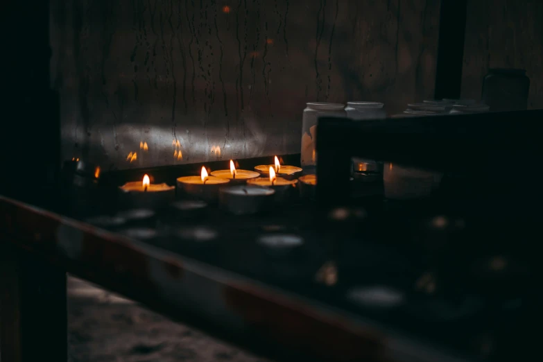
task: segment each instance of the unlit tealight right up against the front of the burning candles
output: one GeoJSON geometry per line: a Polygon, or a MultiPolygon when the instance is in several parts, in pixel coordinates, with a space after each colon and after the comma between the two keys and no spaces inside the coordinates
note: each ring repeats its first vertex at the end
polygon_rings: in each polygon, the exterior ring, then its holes
{"type": "Polygon", "coordinates": [[[270,209],[274,194],[275,191],[268,187],[234,186],[221,189],[219,200],[227,212],[248,215],[270,209]]]}

